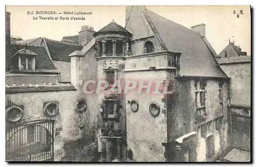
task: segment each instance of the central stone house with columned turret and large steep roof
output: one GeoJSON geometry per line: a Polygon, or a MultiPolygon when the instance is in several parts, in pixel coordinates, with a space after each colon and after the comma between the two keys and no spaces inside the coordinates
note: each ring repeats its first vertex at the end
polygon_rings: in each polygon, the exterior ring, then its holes
{"type": "Polygon", "coordinates": [[[173,93],[115,94],[109,86],[87,95],[88,106],[97,101],[101,161],[216,160],[230,145],[230,78],[205,24],[187,29],[144,7],[125,12],[124,28],[113,20],[70,54],[72,84],[84,93],[89,80],[142,81],[143,88],[158,80],[173,93]]]}

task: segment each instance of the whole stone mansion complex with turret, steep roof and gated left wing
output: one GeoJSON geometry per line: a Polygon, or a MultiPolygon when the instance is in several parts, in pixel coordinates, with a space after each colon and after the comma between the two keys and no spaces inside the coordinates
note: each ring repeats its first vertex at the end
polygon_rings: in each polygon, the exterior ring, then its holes
{"type": "Polygon", "coordinates": [[[14,122],[25,127],[26,121],[56,120],[56,161],[215,161],[234,143],[234,98],[232,76],[207,41],[205,26],[188,29],[143,6],[128,6],[124,27],[113,20],[97,32],[82,26],[60,42],[39,37],[7,43],[19,46],[7,60],[29,54],[36,70],[26,71],[25,79],[21,66],[8,65],[6,108],[20,106],[23,117],[14,122]],[[21,79],[11,80],[13,68],[21,79]],[[52,104],[57,116],[45,109],[52,104]]]}

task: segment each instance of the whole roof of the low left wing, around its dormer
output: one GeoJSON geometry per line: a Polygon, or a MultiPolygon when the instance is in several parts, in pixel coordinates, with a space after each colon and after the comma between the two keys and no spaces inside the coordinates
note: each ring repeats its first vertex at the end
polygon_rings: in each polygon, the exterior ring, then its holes
{"type": "MultiPolygon", "coordinates": [[[[13,71],[12,58],[18,51],[25,49],[36,54],[35,72],[60,72],[60,80],[71,81],[70,57],[75,50],[82,46],[63,43],[44,37],[20,40],[6,44],[6,71],[13,71]]],[[[21,52],[19,52],[21,53],[21,52]]]]}

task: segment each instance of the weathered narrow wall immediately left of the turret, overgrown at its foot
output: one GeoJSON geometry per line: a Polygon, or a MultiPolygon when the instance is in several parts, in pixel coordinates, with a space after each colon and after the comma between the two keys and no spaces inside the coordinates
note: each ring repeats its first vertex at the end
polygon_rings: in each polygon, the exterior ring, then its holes
{"type": "MultiPolygon", "coordinates": [[[[83,99],[87,103],[87,111],[80,115],[80,120],[84,124],[81,137],[76,141],[69,141],[67,149],[81,146],[78,156],[74,152],[69,152],[70,157],[77,161],[97,161],[98,157],[98,117],[99,103],[97,94],[86,94],[83,86],[88,80],[98,81],[97,60],[94,47],[84,55],[74,55],[71,57],[71,80],[77,88],[77,99],[83,99]]],[[[89,91],[89,90],[88,90],[89,91]]],[[[73,149],[74,150],[74,149],[73,149]]],[[[69,159],[69,156],[66,156],[69,159]]]]}

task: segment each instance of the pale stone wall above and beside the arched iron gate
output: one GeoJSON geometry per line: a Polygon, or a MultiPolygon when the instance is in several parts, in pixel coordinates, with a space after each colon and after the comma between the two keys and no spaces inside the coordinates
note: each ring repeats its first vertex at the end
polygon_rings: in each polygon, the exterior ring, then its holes
{"type": "Polygon", "coordinates": [[[54,140],[54,160],[58,161],[61,156],[65,155],[63,144],[66,138],[79,137],[79,118],[75,112],[75,97],[76,91],[6,94],[6,107],[24,106],[24,114],[20,122],[40,119],[55,120],[53,135],[55,135],[56,128],[62,128],[60,136],[56,136],[54,140]],[[56,117],[49,117],[44,112],[44,103],[51,101],[58,102],[59,114],[56,117]]]}

